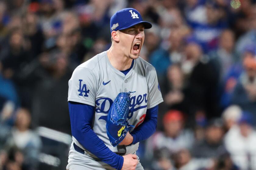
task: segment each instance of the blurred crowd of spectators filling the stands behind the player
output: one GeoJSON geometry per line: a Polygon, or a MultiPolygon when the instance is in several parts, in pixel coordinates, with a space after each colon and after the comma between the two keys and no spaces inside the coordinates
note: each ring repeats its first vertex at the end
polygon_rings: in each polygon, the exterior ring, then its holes
{"type": "Polygon", "coordinates": [[[43,169],[56,144],[37,127],[71,134],[68,80],[111,46],[110,17],[126,7],[153,24],[140,57],[164,98],[144,168],[256,170],[256,0],[0,1],[0,170],[43,169]]]}

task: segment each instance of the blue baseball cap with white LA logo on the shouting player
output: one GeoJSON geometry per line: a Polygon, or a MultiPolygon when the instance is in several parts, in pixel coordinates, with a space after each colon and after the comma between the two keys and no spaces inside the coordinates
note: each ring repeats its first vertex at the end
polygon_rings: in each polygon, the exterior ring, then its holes
{"type": "Polygon", "coordinates": [[[129,28],[142,23],[145,29],[150,29],[152,24],[143,21],[140,13],[133,8],[125,8],[117,11],[110,19],[110,32],[129,28]]]}

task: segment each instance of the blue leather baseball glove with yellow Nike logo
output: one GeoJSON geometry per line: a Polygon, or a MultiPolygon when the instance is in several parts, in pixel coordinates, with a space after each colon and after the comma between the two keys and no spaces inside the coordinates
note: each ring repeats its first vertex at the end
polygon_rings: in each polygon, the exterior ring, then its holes
{"type": "Polygon", "coordinates": [[[131,93],[133,92],[119,93],[108,111],[106,130],[114,147],[123,141],[127,132],[134,127],[127,122],[131,93]]]}

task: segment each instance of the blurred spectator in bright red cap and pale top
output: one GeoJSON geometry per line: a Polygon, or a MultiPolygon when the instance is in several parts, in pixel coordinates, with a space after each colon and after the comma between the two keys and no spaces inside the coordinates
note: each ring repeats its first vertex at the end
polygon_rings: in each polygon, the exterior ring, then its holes
{"type": "Polygon", "coordinates": [[[183,113],[178,110],[169,110],[163,117],[164,132],[156,132],[148,142],[148,147],[155,149],[168,148],[175,153],[182,148],[190,149],[194,142],[194,134],[184,128],[183,113]]]}

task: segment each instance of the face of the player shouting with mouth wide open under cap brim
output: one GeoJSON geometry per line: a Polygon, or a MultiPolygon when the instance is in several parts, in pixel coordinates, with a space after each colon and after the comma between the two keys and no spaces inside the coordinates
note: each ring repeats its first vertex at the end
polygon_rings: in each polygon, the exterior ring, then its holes
{"type": "Polygon", "coordinates": [[[120,30],[119,43],[123,53],[131,59],[137,59],[144,42],[144,25],[137,24],[130,28],[120,30]]]}

